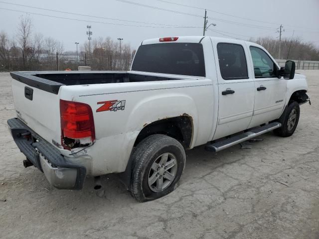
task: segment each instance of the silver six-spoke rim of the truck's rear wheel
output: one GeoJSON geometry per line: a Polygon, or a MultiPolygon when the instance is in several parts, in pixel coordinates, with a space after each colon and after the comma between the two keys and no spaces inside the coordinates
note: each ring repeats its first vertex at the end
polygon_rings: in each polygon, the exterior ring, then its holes
{"type": "Polygon", "coordinates": [[[148,183],[153,192],[165,190],[175,179],[177,160],[172,153],[161,154],[152,164],[149,171],[148,183]]]}

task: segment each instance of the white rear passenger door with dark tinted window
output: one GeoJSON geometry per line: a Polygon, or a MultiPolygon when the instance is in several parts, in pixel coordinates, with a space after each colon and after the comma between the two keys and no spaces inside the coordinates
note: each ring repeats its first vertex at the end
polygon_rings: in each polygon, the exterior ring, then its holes
{"type": "Polygon", "coordinates": [[[217,139],[248,128],[254,108],[254,81],[249,77],[247,48],[243,42],[215,41],[213,47],[217,52],[219,98],[218,122],[213,139],[217,139]]]}

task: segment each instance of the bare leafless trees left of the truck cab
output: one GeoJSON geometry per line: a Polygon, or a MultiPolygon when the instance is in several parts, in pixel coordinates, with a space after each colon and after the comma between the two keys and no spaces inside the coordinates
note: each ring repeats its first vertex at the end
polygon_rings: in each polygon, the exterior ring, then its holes
{"type": "Polygon", "coordinates": [[[65,52],[63,42],[35,32],[28,15],[20,17],[14,37],[0,32],[0,71],[77,70],[78,66],[128,70],[133,56],[129,44],[120,46],[109,37],[79,44],[78,52],[65,52]]]}

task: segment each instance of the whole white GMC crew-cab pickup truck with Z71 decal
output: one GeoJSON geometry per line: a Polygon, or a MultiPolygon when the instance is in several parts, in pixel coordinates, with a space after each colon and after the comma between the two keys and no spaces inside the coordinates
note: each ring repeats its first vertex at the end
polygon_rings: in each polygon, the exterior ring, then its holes
{"type": "Polygon", "coordinates": [[[186,149],[290,136],[310,102],[293,61],[280,68],[258,44],[209,36],[144,40],[130,71],[11,76],[17,117],[7,123],[25,167],[60,189],[119,173],[138,201],[176,188],[186,149]]]}

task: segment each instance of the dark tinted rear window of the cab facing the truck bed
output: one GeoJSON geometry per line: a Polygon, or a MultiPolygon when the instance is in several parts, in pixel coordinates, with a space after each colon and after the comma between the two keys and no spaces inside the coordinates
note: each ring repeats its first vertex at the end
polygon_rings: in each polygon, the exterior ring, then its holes
{"type": "Polygon", "coordinates": [[[203,46],[200,43],[141,45],[135,55],[132,70],[205,76],[203,46]]]}

